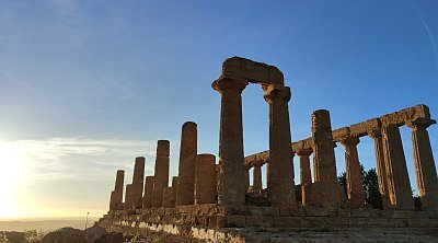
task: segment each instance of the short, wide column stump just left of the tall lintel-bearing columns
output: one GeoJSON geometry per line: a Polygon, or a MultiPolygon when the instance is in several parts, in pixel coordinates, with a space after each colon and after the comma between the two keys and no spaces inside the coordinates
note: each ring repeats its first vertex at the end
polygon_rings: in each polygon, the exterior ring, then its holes
{"type": "Polygon", "coordinates": [[[217,201],[216,158],[199,154],[196,161],[195,205],[217,201]]]}

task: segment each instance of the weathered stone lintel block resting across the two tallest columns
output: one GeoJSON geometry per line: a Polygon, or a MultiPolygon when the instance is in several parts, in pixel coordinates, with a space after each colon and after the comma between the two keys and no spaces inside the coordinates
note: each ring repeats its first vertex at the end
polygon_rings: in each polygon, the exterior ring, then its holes
{"type": "Polygon", "coordinates": [[[241,57],[228,58],[222,63],[220,78],[243,79],[264,84],[284,84],[283,72],[278,68],[241,57]]]}

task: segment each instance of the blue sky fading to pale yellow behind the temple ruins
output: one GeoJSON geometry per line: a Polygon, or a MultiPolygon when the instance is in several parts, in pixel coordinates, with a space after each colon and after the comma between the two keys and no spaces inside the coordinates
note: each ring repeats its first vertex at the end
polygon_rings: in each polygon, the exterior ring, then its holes
{"type": "MultiPolygon", "coordinates": [[[[233,56],[284,72],[293,141],[320,108],[334,129],[416,104],[438,117],[435,0],[0,0],[0,219],[102,216],[116,170],[130,183],[146,157],[153,174],[157,140],[171,141],[177,174],[187,120],[198,152],[217,154],[210,85],[233,56]]],[[[260,85],[242,97],[247,155],[268,149],[268,106],[260,85]]],[[[438,128],[428,131],[438,160],[438,128]]],[[[411,130],[401,134],[416,189],[411,130]]],[[[372,140],[358,149],[376,167],[372,140]]]]}

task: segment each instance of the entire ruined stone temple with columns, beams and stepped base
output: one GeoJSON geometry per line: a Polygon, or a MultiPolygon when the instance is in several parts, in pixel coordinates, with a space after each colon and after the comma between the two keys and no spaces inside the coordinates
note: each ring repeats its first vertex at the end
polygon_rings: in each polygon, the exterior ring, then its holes
{"type": "Polygon", "coordinates": [[[153,176],[145,177],[145,163],[153,162],[136,158],[123,199],[125,172],[117,171],[110,211],[99,225],[193,242],[438,242],[438,178],[427,131],[436,121],[426,105],[335,130],[328,111],[319,109],[311,114],[312,137],[292,141],[290,88],[276,67],[229,58],[212,88],[221,95],[219,157],[198,154],[197,125],[185,123],[178,175],[172,185],[170,141],[159,140],[153,176]],[[262,86],[269,106],[269,148],[245,157],[241,93],[251,83],[262,86]],[[401,126],[412,129],[412,163],[423,210],[414,207],[401,126]],[[367,136],[374,143],[383,209],[365,200],[357,146],[367,136]],[[336,146],[345,148],[346,190],[337,181],[336,146]],[[293,183],[296,155],[299,185],[293,183]],[[266,188],[262,166],[266,166],[266,188]]]}

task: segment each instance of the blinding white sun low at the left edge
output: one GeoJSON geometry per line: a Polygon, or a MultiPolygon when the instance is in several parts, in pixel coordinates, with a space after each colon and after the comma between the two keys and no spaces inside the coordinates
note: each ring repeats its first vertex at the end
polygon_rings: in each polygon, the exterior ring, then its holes
{"type": "Polygon", "coordinates": [[[20,146],[0,141],[0,218],[20,213],[16,200],[24,174],[24,160],[20,146]]]}

